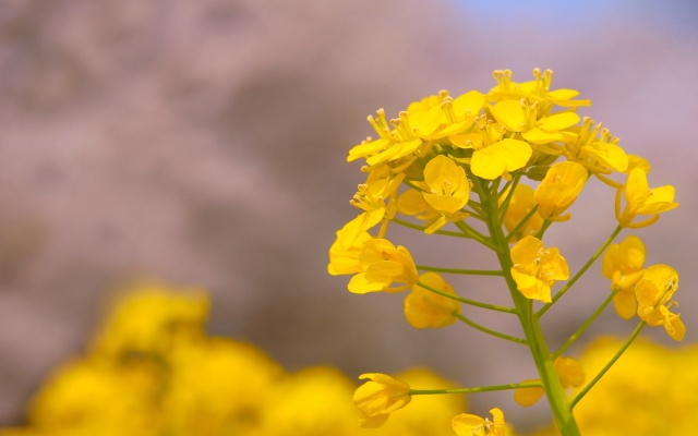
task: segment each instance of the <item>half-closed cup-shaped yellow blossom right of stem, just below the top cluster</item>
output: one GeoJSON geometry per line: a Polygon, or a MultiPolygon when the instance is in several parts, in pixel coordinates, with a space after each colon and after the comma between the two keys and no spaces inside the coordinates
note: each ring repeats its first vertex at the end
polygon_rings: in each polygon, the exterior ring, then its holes
{"type": "Polygon", "coordinates": [[[553,165],[535,189],[538,214],[553,221],[568,220],[569,214],[561,214],[577,199],[587,177],[587,169],[580,164],[564,161],[553,165]]]}

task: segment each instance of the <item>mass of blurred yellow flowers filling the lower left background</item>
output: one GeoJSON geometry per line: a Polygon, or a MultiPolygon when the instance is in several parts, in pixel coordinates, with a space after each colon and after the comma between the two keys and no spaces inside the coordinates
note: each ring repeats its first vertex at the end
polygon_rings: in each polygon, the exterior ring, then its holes
{"type": "MultiPolygon", "coordinates": [[[[462,396],[421,397],[382,428],[361,428],[352,402],[357,385],[337,368],[286,372],[250,343],[207,336],[207,317],[201,290],[134,287],[87,352],[62,364],[36,392],[28,424],[0,435],[453,435],[450,419],[467,410],[462,396]]],[[[398,377],[405,386],[453,387],[424,368],[398,377]]]]}

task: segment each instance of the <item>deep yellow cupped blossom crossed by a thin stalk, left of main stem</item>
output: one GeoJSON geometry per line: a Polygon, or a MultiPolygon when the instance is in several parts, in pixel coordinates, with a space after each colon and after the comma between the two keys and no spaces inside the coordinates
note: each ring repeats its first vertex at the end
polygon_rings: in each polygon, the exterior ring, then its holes
{"type": "MultiPolygon", "coordinates": [[[[425,272],[420,282],[456,295],[454,288],[436,272],[425,272]]],[[[405,298],[405,317],[414,328],[441,328],[456,322],[454,314],[460,313],[460,304],[418,284],[405,298]]]]}

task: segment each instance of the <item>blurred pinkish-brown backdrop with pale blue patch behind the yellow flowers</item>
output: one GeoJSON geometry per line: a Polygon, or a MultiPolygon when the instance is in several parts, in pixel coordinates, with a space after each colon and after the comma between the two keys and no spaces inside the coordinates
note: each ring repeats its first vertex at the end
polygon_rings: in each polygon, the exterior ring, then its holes
{"type": "MultiPolygon", "coordinates": [[[[554,70],[554,87],[592,100],[581,116],[650,160],[651,186],[676,186],[682,206],[635,234],[646,265],[679,271],[695,342],[697,24],[690,0],[0,0],[0,425],[22,422],[43,377],[139,277],[207,289],[212,334],[290,370],[426,365],[464,386],[533,377],[527,349],[462,325],[414,330],[402,295],[353,295],[348,277],[326,274],[335,231],[357,215],[363,174],[346,154],[373,134],[365,117],[443,88],[486,92],[495,69],[519,82],[554,70]]],[[[573,270],[615,228],[613,193],[592,182],[549,232],[573,270]]],[[[492,265],[474,244],[394,234],[418,263],[492,265]]],[[[496,279],[454,284],[504,298],[496,279]]],[[[554,343],[609,281],[595,265],[574,290],[544,318],[554,343]]],[[[506,315],[466,311],[516,331],[506,315]]],[[[634,326],[610,310],[580,346],[634,326]]],[[[549,420],[510,393],[471,403],[521,429],[549,420]]]]}

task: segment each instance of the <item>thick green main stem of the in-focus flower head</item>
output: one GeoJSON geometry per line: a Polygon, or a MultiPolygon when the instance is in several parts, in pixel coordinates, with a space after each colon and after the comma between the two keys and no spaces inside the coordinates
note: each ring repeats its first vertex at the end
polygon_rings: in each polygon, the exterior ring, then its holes
{"type": "Polygon", "coordinates": [[[483,186],[479,183],[477,178],[473,179],[476,185],[479,185],[477,186],[477,191],[480,194],[482,207],[488,210],[484,215],[488,219],[486,223],[490,231],[490,238],[492,239],[493,244],[501,249],[496,255],[500,261],[500,265],[502,266],[502,271],[504,272],[504,279],[509,288],[512,300],[514,301],[514,305],[518,312],[519,320],[524,328],[524,334],[526,335],[526,340],[531,350],[531,355],[533,356],[533,362],[535,363],[535,367],[538,368],[538,373],[541,377],[543,390],[545,391],[545,397],[547,398],[553,412],[555,424],[563,436],[580,436],[579,427],[577,426],[575,416],[571,413],[571,408],[567,401],[567,396],[565,395],[562,382],[557,372],[555,372],[552,354],[547,349],[547,343],[545,342],[540,324],[535,313],[533,312],[533,305],[530,300],[518,291],[516,281],[514,281],[514,278],[512,277],[510,271],[513,262],[509,254],[508,242],[502,231],[502,222],[498,221],[500,211],[497,198],[496,196],[494,198],[492,197],[489,186],[483,186]]]}

